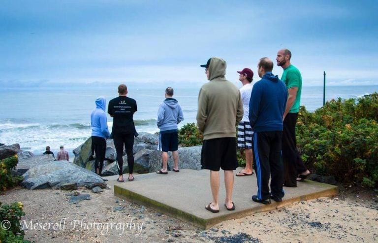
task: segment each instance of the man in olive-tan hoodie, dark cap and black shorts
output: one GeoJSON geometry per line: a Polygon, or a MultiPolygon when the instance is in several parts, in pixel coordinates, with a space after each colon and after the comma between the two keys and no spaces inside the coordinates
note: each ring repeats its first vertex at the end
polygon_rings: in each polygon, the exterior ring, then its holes
{"type": "Polygon", "coordinates": [[[203,133],[201,152],[202,169],[210,170],[210,187],[213,201],[206,205],[211,212],[219,212],[220,168],[224,171],[226,198],[224,206],[234,210],[232,190],[233,170],[239,166],[236,158],[236,125],[243,118],[243,102],[239,89],[225,79],[226,62],[210,58],[206,68],[207,79],[198,95],[197,125],[203,133]]]}

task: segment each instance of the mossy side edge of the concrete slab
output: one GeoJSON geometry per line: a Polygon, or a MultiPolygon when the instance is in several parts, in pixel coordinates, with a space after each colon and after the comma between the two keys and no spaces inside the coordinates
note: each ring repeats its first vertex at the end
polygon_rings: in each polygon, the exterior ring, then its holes
{"type": "MultiPolygon", "coordinates": [[[[155,210],[170,215],[172,217],[175,217],[177,219],[180,219],[184,222],[187,222],[189,224],[192,224],[196,227],[199,227],[201,229],[207,230],[211,228],[212,226],[229,219],[235,219],[235,218],[242,218],[248,215],[252,215],[257,212],[265,212],[265,211],[271,211],[276,210],[279,208],[284,208],[287,205],[291,205],[295,202],[300,201],[306,201],[306,200],[312,200],[320,197],[332,197],[335,196],[338,193],[338,187],[330,184],[320,183],[316,181],[306,180],[307,183],[313,183],[317,186],[323,187],[324,190],[317,191],[314,193],[309,193],[297,197],[292,197],[289,199],[285,199],[282,202],[276,203],[272,201],[272,204],[270,205],[259,205],[257,207],[248,208],[245,210],[237,210],[234,212],[230,212],[227,214],[220,215],[218,217],[213,217],[210,219],[204,219],[198,216],[195,216],[193,214],[190,214],[188,212],[185,212],[183,210],[171,207],[169,205],[160,203],[156,200],[153,200],[151,198],[145,197],[143,195],[140,195],[138,193],[132,192],[130,190],[127,190],[126,188],[122,188],[120,186],[114,185],[114,195],[120,198],[125,198],[128,201],[138,203],[141,205],[144,205],[146,207],[154,208],[155,210]]],[[[252,200],[251,200],[252,201],[252,200]]]]}

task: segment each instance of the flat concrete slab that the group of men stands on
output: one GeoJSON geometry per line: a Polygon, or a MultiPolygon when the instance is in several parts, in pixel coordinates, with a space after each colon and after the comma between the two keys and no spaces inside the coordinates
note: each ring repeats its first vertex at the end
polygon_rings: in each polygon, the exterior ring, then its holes
{"type": "MultiPolygon", "coordinates": [[[[238,168],[240,171],[241,168],[238,168]]],[[[172,217],[188,222],[201,229],[209,229],[224,220],[241,218],[256,212],[283,208],[294,202],[311,200],[319,197],[330,197],[338,193],[337,186],[311,180],[298,182],[298,187],[284,187],[283,202],[272,201],[263,205],[252,201],[257,193],[255,174],[251,176],[235,176],[232,200],[234,211],[224,207],[225,189],[223,172],[220,187],[220,212],[212,213],[205,206],[212,201],[210,189],[210,171],[180,170],[179,173],[138,174],[134,181],[116,182],[114,194],[120,198],[135,202],[172,217]]],[[[127,174],[124,175],[127,178],[127,174]]]]}

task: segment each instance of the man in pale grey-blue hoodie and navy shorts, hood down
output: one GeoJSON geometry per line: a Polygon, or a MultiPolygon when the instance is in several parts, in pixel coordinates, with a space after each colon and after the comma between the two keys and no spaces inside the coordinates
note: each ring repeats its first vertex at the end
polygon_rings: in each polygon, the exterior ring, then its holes
{"type": "Polygon", "coordinates": [[[168,151],[172,151],[173,156],[173,171],[179,170],[179,138],[177,124],[184,121],[183,110],[177,100],[172,98],[173,88],[165,89],[165,100],[160,104],[158,110],[158,128],[159,133],[159,149],[161,149],[161,160],[163,168],[157,174],[168,174],[168,151]]]}

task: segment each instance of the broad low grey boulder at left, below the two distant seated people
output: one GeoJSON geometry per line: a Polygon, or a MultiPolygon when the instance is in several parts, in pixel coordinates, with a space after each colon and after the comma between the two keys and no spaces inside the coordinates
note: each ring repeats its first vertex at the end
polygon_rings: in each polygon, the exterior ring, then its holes
{"type": "Polygon", "coordinates": [[[90,187],[104,180],[97,174],[68,161],[52,161],[34,166],[24,175],[22,186],[33,189],[57,188],[64,183],[90,187]]]}

